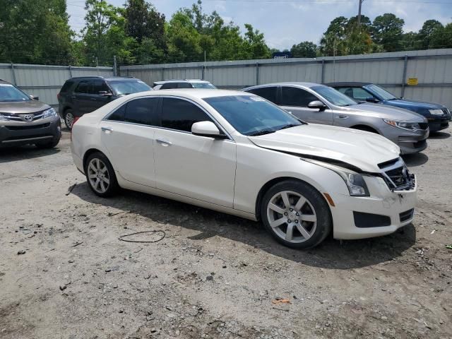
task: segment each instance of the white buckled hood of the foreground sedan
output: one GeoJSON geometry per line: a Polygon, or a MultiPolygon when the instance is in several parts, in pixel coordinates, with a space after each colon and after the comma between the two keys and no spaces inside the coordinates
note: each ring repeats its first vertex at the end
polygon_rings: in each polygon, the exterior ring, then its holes
{"type": "Polygon", "coordinates": [[[364,172],[380,172],[379,163],[400,154],[398,145],[379,134],[319,124],[249,136],[249,140],[270,150],[346,162],[364,172]]]}

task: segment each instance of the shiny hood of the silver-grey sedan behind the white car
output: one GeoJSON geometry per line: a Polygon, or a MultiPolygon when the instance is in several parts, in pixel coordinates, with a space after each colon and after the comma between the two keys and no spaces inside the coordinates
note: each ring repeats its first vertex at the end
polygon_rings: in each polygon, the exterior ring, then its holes
{"type": "Polygon", "coordinates": [[[369,116],[380,117],[381,119],[393,119],[400,121],[412,121],[412,122],[427,122],[425,117],[417,114],[416,112],[403,109],[401,107],[391,107],[388,105],[362,103],[359,105],[352,105],[347,107],[341,107],[343,110],[349,110],[352,112],[367,112],[369,116]]]}

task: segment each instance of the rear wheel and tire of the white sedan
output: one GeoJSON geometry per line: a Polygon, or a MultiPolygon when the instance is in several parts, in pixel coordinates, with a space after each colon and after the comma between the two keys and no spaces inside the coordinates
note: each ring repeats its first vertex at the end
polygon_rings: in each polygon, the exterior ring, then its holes
{"type": "Polygon", "coordinates": [[[85,175],[90,189],[97,196],[107,198],[117,192],[118,182],[113,166],[104,154],[96,152],[88,156],[85,175]]]}

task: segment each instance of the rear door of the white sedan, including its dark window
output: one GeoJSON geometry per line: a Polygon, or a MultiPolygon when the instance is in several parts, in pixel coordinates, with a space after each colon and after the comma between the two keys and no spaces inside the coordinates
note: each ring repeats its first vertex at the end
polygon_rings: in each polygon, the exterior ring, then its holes
{"type": "Polygon", "coordinates": [[[155,187],[155,126],[160,125],[157,107],[160,98],[131,100],[102,120],[102,143],[121,177],[155,187]]]}

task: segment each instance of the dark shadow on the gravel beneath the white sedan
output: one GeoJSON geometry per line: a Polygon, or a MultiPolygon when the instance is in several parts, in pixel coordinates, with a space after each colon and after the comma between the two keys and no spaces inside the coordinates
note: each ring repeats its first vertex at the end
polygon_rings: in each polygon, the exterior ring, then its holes
{"type": "MultiPolygon", "coordinates": [[[[100,198],[90,191],[86,182],[78,184],[72,194],[89,203],[137,213],[149,220],[163,222],[169,227],[175,225],[198,231],[199,234],[189,237],[192,240],[225,237],[280,258],[320,268],[347,270],[391,261],[416,242],[415,227],[410,224],[385,237],[347,240],[342,243],[329,237],[316,248],[302,251],[278,244],[259,222],[166,198],[128,190],[121,190],[119,195],[113,198],[100,198]]],[[[128,226],[131,227],[130,224],[128,226]]],[[[131,228],[133,230],[133,227],[131,228]]]]}

